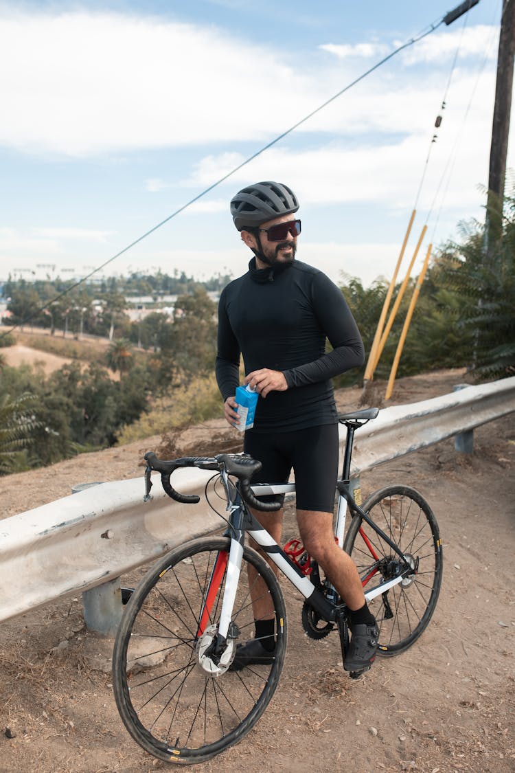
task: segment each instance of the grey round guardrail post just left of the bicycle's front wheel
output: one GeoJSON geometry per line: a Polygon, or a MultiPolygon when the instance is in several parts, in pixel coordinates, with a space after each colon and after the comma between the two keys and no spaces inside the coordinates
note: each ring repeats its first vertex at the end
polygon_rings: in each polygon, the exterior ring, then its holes
{"type": "MultiPolygon", "coordinates": [[[[95,485],[100,485],[100,482],[80,483],[73,486],[72,494],[90,489],[95,485]]],[[[83,591],[84,622],[90,631],[114,636],[123,611],[120,577],[114,577],[97,587],[90,588],[89,591],[83,591]]]]}

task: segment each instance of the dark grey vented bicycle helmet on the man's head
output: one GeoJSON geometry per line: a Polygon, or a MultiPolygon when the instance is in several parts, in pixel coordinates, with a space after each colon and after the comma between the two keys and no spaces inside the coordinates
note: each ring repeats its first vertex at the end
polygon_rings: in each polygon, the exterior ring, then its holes
{"type": "Polygon", "coordinates": [[[231,199],[232,220],[239,231],[256,228],[267,220],[290,215],[299,209],[293,191],[281,182],[256,182],[231,199]]]}

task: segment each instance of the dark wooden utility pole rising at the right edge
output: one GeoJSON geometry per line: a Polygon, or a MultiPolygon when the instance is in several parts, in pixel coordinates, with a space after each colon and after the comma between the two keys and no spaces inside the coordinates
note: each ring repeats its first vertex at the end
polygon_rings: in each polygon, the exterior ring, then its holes
{"type": "Polygon", "coordinates": [[[497,55],[496,97],[493,107],[488,199],[486,203],[486,258],[490,260],[502,233],[504,179],[510,135],[513,57],[515,56],[515,0],[503,0],[497,55]]]}

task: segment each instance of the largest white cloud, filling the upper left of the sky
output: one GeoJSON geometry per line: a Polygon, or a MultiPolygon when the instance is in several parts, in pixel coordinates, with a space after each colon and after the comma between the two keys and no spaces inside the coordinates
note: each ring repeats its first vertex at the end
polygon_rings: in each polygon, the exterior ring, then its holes
{"type": "Polygon", "coordinates": [[[0,18],[0,39],[0,143],[32,152],[255,138],[260,100],[280,114],[282,94],[295,90],[308,104],[316,93],[272,49],[212,27],[108,12],[19,13],[0,18]]]}

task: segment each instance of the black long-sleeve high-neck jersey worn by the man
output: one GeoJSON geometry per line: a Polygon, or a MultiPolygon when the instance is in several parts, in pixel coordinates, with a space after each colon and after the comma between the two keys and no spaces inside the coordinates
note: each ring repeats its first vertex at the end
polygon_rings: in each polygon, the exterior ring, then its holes
{"type": "Polygon", "coordinates": [[[246,373],[280,370],[288,384],[259,398],[251,431],[293,431],[337,422],[330,379],[361,366],[364,347],[341,290],[322,271],[300,261],[256,269],[252,258],[220,296],[215,372],[224,400],[239,385],[240,355],[246,373]]]}

